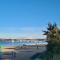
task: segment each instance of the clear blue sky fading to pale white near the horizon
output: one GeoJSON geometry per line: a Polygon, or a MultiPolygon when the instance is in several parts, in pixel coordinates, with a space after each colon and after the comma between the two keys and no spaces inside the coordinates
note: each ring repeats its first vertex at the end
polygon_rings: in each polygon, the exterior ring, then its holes
{"type": "Polygon", "coordinates": [[[60,0],[0,0],[0,38],[43,38],[49,22],[60,26],[60,0]]]}

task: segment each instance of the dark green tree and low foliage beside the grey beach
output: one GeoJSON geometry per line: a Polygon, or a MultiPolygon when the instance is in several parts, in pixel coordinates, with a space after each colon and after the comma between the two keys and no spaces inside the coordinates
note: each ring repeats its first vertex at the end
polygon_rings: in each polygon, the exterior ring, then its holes
{"type": "Polygon", "coordinates": [[[48,24],[47,31],[44,31],[44,35],[47,36],[47,51],[37,53],[32,57],[39,60],[60,60],[60,29],[57,24],[48,24]]]}

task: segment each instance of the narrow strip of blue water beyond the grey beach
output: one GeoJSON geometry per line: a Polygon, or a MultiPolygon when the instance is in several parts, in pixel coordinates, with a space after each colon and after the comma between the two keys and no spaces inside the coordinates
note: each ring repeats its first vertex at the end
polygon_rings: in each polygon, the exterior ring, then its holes
{"type": "Polygon", "coordinates": [[[43,45],[43,44],[48,44],[47,42],[44,41],[39,41],[39,42],[0,42],[0,46],[23,46],[23,45],[43,45]]]}

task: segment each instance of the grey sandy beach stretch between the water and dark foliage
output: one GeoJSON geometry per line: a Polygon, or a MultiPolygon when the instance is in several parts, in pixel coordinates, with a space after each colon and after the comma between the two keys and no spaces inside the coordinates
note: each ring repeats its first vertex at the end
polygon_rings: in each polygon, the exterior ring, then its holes
{"type": "Polygon", "coordinates": [[[39,46],[38,48],[36,46],[30,46],[30,47],[22,47],[20,50],[17,50],[16,58],[15,60],[31,60],[30,58],[38,53],[43,52],[46,50],[46,47],[39,46]]]}

